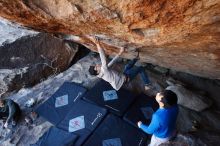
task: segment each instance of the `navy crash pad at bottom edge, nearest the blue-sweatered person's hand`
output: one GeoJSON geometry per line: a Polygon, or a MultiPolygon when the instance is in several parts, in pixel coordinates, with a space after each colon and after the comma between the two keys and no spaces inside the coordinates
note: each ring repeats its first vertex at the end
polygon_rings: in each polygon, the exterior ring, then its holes
{"type": "Polygon", "coordinates": [[[147,138],[141,130],[110,114],[83,146],[146,146],[147,138]]]}

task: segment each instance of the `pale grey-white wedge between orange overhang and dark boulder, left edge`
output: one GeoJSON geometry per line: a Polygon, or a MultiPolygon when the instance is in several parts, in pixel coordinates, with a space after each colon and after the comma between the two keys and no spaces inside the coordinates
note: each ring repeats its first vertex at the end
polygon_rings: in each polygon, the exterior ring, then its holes
{"type": "Polygon", "coordinates": [[[34,36],[37,34],[38,32],[36,31],[28,30],[25,27],[11,23],[10,21],[0,17],[0,46],[5,43],[12,43],[23,36],[34,36]]]}

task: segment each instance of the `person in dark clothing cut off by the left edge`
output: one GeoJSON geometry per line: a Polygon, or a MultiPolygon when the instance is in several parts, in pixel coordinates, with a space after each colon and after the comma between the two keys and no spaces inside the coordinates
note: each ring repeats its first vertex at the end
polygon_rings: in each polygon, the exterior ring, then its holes
{"type": "Polygon", "coordinates": [[[11,99],[0,99],[0,119],[6,120],[4,127],[15,126],[21,116],[21,110],[17,103],[11,99]]]}

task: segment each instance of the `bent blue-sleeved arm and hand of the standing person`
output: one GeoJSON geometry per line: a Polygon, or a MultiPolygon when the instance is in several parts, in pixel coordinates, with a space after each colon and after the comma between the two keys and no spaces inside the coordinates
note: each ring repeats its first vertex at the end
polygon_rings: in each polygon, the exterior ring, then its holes
{"type": "Polygon", "coordinates": [[[153,134],[160,127],[158,121],[157,116],[154,115],[149,126],[139,121],[138,127],[148,134],[153,134]]]}

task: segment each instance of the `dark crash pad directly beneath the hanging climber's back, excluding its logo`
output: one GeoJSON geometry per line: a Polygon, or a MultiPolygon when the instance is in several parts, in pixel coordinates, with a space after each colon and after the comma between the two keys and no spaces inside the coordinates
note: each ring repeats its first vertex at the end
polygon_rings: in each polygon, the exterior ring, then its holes
{"type": "Polygon", "coordinates": [[[104,81],[99,81],[92,89],[90,89],[85,96],[84,100],[92,103],[96,103],[100,106],[106,107],[110,112],[122,116],[127,108],[135,99],[135,94],[126,89],[121,88],[119,91],[116,91],[112,86],[104,81]],[[114,100],[104,100],[103,91],[115,91],[117,93],[117,99],[114,100]]]}

